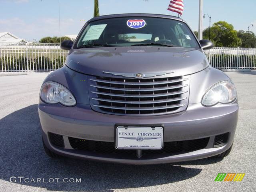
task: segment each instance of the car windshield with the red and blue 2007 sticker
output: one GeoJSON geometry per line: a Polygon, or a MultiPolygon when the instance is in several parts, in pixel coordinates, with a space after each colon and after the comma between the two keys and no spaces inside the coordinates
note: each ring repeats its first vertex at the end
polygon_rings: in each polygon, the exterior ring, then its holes
{"type": "Polygon", "coordinates": [[[199,48],[184,22],[153,17],[121,17],[90,22],[74,48],[170,46],[199,48]]]}

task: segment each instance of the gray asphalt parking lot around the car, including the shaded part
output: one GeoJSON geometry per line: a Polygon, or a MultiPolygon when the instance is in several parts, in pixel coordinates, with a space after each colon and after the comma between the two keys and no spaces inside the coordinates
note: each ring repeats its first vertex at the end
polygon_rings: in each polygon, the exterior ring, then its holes
{"type": "Polygon", "coordinates": [[[0,191],[255,191],[256,71],[226,72],[236,84],[239,120],[230,155],[177,164],[132,166],[51,159],[44,153],[37,111],[48,73],[0,76],[0,191]],[[245,173],[241,182],[214,182],[218,173],[245,173]],[[81,178],[80,183],[12,183],[24,178],[81,178]]]}

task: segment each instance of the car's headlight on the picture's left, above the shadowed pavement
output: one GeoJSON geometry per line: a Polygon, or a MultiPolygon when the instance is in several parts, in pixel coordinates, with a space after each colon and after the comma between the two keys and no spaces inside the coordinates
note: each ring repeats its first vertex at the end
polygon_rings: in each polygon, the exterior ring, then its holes
{"type": "Polygon", "coordinates": [[[40,97],[48,104],[76,105],[76,99],[72,93],[66,87],[56,82],[45,82],[40,90],[40,97]]]}

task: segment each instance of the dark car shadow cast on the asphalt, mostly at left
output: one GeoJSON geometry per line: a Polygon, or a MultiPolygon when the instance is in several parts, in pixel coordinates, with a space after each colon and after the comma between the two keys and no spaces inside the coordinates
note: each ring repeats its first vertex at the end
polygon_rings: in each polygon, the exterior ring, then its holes
{"type": "MultiPolygon", "coordinates": [[[[51,159],[42,146],[37,105],[31,105],[0,120],[0,179],[29,178],[16,185],[46,188],[56,191],[112,191],[112,189],[138,188],[178,182],[197,176],[202,169],[182,165],[211,164],[204,159],[176,165],[160,164],[133,166],[76,160],[51,159]],[[31,179],[60,178],[58,183],[29,182],[31,179]],[[81,178],[81,182],[64,183],[63,178],[81,178]]],[[[73,180],[72,180],[73,181],[73,180]]],[[[20,187],[20,186],[17,186],[20,187]]]]}

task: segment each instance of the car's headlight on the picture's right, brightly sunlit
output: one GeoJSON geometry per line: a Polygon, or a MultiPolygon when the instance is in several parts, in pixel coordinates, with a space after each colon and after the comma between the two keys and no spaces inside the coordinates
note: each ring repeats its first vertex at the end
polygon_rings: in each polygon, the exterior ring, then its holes
{"type": "Polygon", "coordinates": [[[232,82],[224,81],[212,86],[203,96],[202,105],[231,103],[236,99],[236,88],[232,82]]]}

